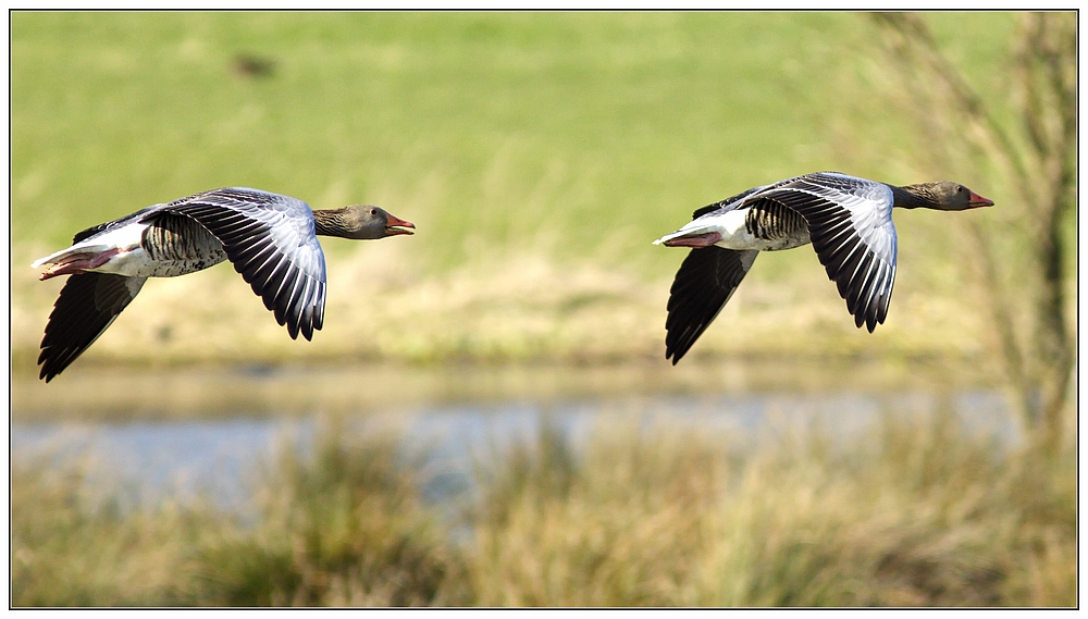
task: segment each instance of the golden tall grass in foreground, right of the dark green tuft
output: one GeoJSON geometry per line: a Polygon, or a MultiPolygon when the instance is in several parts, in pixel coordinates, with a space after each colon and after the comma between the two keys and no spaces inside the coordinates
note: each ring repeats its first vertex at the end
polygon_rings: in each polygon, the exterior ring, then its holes
{"type": "Polygon", "coordinates": [[[849,445],[726,438],[606,429],[564,484],[554,432],[514,450],[479,506],[475,603],[1075,604],[1072,450],[1035,461],[940,413],[849,445]]]}

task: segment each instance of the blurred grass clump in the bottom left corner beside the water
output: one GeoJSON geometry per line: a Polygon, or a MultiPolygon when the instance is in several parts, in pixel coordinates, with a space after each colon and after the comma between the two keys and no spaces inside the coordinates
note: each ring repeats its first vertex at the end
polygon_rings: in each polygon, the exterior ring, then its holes
{"type": "Polygon", "coordinates": [[[186,556],[223,519],[172,502],[134,509],[132,498],[85,454],[13,458],[12,605],[187,604],[186,556]]]}

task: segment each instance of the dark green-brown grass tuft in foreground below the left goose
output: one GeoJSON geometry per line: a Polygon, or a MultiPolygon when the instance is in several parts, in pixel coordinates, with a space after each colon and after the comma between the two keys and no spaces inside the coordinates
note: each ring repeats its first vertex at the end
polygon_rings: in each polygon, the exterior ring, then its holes
{"type": "Polygon", "coordinates": [[[456,555],[420,502],[420,462],[386,434],[331,422],[312,450],[285,448],[261,519],[200,552],[200,597],[223,606],[456,604],[456,555]]]}

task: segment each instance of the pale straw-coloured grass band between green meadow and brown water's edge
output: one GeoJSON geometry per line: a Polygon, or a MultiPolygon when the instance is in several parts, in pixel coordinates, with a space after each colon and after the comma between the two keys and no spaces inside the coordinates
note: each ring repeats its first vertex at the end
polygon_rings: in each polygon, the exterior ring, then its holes
{"type": "MultiPolygon", "coordinates": [[[[393,239],[394,242],[399,239],[393,239]]],[[[411,239],[408,239],[409,242],[411,239]]],[[[659,248],[654,248],[659,249],[659,248]]],[[[404,245],[374,244],[330,261],[325,326],[293,341],[230,265],[149,282],[55,384],[82,370],[165,370],[203,363],[655,362],[664,371],[670,278],[566,264],[542,256],[434,274],[398,262],[404,245]]],[[[755,357],[892,363],[948,358],[987,364],[985,314],[934,297],[902,268],[889,320],[854,326],[834,284],[807,248],[783,258],[807,277],[745,281],[684,363],[755,357]]],[[[761,258],[763,260],[763,258],[761,258]]],[[[35,375],[38,344],[63,282],[12,273],[11,350],[16,376],[35,375]]],[[[972,301],[969,296],[965,296],[972,301]]],[[[963,300],[963,299],[961,299],[963,300]]],[[[992,370],[992,369],[991,369],[992,370]]]]}

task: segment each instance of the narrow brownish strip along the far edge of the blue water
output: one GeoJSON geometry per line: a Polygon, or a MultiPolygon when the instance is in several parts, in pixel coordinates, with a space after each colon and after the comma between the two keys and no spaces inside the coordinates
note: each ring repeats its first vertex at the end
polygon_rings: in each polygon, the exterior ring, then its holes
{"type": "Polygon", "coordinates": [[[952,359],[895,362],[861,356],[837,360],[767,356],[681,363],[659,359],[617,363],[466,363],[416,366],[307,363],[108,367],[74,369],[63,383],[36,375],[11,384],[11,420],[51,422],[178,421],[245,417],[369,414],[398,409],[492,406],[511,401],[562,406],[571,401],[636,403],[656,397],[832,397],[874,394],[998,391],[985,366],[952,359]],[[368,385],[360,388],[359,385],[368,385]],[[63,385],[63,388],[58,388],[63,385]]]}

